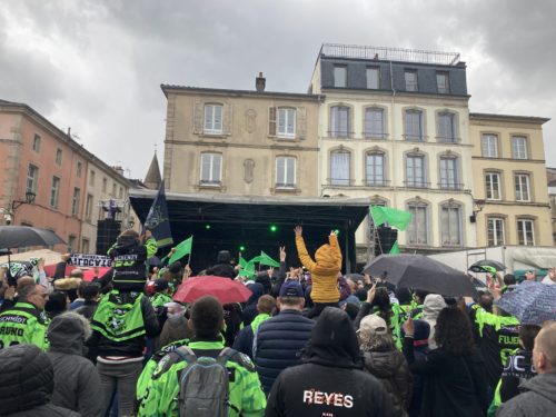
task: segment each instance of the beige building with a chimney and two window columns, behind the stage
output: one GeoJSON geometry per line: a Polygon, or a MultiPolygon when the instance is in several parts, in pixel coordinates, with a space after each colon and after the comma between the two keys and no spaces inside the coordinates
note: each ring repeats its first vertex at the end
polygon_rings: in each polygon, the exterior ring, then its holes
{"type": "Polygon", "coordinates": [[[318,195],[316,95],[162,86],[170,192],[318,195]]]}

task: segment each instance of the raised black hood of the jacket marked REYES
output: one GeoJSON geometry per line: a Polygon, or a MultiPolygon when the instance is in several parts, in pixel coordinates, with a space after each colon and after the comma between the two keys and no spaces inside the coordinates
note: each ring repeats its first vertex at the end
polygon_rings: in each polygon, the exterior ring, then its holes
{"type": "Polygon", "coordinates": [[[305,360],[332,368],[360,368],[359,342],[346,311],[327,307],[312,328],[305,360]]]}

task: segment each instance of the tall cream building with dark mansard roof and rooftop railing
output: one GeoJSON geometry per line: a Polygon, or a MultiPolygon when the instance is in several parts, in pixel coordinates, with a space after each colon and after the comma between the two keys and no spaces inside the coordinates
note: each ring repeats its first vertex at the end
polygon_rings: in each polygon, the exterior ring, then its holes
{"type": "MultiPolygon", "coordinates": [[[[324,44],[309,91],[324,95],[322,196],[409,210],[406,250],[476,245],[466,66],[457,54],[324,44]]],[[[357,234],[369,239],[370,221],[357,234]]],[[[364,252],[364,251],[361,251],[364,252]]]]}

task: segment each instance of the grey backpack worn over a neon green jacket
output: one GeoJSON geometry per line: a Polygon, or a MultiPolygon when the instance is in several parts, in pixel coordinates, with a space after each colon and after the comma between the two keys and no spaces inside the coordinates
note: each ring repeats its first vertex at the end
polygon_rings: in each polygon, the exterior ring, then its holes
{"type": "Polygon", "coordinates": [[[224,348],[217,358],[197,357],[188,346],[173,351],[187,363],[179,378],[178,408],[180,417],[227,417],[229,377],[226,363],[237,354],[224,348]]]}

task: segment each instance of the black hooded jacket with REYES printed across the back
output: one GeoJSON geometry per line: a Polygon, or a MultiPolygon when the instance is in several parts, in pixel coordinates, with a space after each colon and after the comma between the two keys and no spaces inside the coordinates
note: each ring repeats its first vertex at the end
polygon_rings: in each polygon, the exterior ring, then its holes
{"type": "Polygon", "coordinates": [[[360,369],[359,344],[345,311],[325,308],[305,360],[280,374],[265,416],[393,416],[383,385],[360,369]]]}

